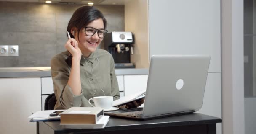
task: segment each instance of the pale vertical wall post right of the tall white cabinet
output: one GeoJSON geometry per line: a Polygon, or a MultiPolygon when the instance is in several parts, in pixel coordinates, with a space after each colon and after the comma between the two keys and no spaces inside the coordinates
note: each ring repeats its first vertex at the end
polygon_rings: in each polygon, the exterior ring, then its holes
{"type": "Polygon", "coordinates": [[[221,0],[223,134],[244,134],[243,0],[221,0]]]}

